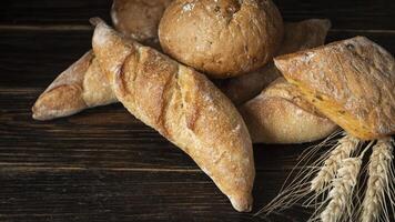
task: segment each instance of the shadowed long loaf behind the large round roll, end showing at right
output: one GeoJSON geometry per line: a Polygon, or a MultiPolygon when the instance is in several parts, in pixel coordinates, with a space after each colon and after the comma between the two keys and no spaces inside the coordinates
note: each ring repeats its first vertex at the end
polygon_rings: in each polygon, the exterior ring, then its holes
{"type": "MultiPolygon", "coordinates": [[[[290,22],[284,26],[284,40],[276,54],[296,52],[324,44],[331,21],[327,19],[308,19],[301,22],[290,22]]],[[[276,78],[281,77],[273,61],[247,74],[223,80],[220,89],[240,105],[257,95],[276,78]]]]}

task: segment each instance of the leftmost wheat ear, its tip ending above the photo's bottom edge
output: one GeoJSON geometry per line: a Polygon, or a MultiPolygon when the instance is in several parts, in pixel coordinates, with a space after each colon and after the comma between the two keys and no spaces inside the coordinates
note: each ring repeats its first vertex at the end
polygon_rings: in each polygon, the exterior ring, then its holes
{"type": "Polygon", "coordinates": [[[311,190],[318,193],[335,178],[343,160],[350,158],[351,153],[358,147],[359,140],[345,135],[338,140],[336,148],[330,153],[330,157],[324,161],[323,167],[311,182],[311,190]]]}

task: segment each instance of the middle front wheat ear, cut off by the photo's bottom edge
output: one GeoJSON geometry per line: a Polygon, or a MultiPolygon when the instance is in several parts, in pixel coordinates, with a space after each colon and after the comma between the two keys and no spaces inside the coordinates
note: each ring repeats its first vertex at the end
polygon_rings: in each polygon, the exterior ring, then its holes
{"type": "Polygon", "coordinates": [[[342,161],[333,179],[333,189],[330,191],[325,210],[321,213],[323,222],[337,222],[350,210],[352,195],[361,170],[362,159],[348,158],[342,161]]]}

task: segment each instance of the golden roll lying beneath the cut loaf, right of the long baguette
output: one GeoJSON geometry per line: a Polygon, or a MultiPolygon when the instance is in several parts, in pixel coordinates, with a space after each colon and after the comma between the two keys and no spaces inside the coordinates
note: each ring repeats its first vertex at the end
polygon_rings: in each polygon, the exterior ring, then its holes
{"type": "Polygon", "coordinates": [[[303,143],[321,140],[337,125],[326,119],[283,77],[240,107],[253,143],[303,143]]]}

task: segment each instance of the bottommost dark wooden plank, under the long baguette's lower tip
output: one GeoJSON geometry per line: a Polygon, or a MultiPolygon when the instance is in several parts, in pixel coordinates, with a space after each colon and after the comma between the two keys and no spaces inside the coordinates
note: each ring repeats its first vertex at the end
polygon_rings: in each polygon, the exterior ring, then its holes
{"type": "MultiPolygon", "coordinates": [[[[257,174],[253,212],[273,198],[278,178],[257,174]]],[[[201,172],[2,168],[0,181],[1,221],[257,221],[253,213],[235,212],[201,172]]],[[[265,221],[306,216],[295,209],[265,221]]]]}

